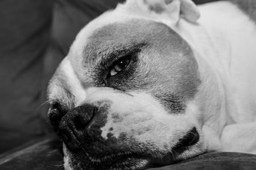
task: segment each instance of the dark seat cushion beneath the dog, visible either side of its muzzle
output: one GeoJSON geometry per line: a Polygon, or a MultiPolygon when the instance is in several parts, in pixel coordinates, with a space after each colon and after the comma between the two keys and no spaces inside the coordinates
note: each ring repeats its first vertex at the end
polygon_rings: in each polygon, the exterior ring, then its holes
{"type": "MultiPolygon", "coordinates": [[[[255,167],[256,155],[212,152],[154,170],[254,170],[255,167]]],[[[54,136],[49,136],[28,143],[0,156],[0,169],[63,169],[61,142],[54,136]]]]}

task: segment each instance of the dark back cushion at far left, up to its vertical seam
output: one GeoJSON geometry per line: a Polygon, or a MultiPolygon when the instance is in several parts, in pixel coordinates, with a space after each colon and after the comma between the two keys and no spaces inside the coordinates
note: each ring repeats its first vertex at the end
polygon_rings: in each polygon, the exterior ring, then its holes
{"type": "Polygon", "coordinates": [[[42,134],[37,108],[52,2],[0,1],[0,153],[42,134]]]}

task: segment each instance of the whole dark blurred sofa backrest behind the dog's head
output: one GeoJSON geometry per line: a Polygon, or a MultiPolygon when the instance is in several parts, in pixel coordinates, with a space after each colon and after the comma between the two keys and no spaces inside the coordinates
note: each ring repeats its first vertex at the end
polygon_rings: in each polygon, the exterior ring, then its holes
{"type": "Polygon", "coordinates": [[[0,1],[0,155],[51,134],[49,79],[77,32],[122,1],[0,1]]]}

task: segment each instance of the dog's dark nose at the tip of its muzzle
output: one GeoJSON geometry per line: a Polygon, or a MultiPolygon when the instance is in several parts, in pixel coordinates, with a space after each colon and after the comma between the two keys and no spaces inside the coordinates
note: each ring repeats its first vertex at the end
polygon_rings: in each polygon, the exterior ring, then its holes
{"type": "Polygon", "coordinates": [[[69,148],[78,148],[79,139],[92,122],[98,109],[90,104],[78,106],[61,118],[59,134],[69,148]]]}

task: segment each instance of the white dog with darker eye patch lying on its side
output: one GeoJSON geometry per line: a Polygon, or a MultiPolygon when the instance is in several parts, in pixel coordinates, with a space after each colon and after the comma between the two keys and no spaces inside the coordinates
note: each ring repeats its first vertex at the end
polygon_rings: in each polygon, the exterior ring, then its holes
{"type": "Polygon", "coordinates": [[[127,0],[86,25],[47,90],[65,169],[256,153],[255,6],[127,0]]]}

